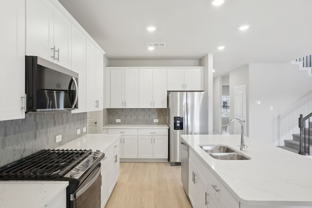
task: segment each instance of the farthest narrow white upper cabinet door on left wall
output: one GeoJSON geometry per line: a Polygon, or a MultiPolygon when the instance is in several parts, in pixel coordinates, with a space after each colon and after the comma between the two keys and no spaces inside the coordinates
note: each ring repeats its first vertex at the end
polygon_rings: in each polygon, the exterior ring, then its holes
{"type": "Polygon", "coordinates": [[[98,110],[103,109],[103,54],[97,50],[96,57],[96,100],[98,101],[98,110]]]}

